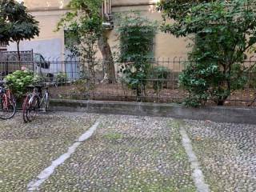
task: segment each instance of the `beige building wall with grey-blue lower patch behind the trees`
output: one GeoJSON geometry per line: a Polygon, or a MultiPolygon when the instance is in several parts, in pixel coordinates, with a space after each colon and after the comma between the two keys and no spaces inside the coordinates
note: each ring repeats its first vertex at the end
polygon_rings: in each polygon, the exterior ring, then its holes
{"type": "MultiPolygon", "coordinates": [[[[142,15],[150,18],[152,21],[157,20],[159,23],[162,21],[161,13],[155,11],[154,4],[158,0],[112,0],[112,11],[114,13],[126,11],[139,10],[142,15]]],[[[65,6],[68,0],[24,0],[26,6],[30,9],[31,13],[39,22],[40,34],[39,37],[32,39],[30,42],[22,42],[22,50],[34,48],[34,52],[42,53],[46,58],[59,58],[64,59],[65,46],[64,46],[64,33],[63,31],[56,32],[56,24],[62,15],[66,13],[65,6]],[[52,40],[52,41],[51,41],[52,40]],[[60,42],[54,43],[52,42],[60,42]],[[40,46],[45,45],[45,46],[40,46]],[[54,48],[52,50],[51,48],[54,48]]],[[[116,29],[110,31],[109,42],[110,46],[114,47],[118,44],[116,29]]],[[[186,58],[186,45],[187,42],[184,38],[175,38],[170,34],[158,32],[155,37],[155,58],[186,58]]],[[[15,45],[11,44],[10,49],[15,49],[15,45]]],[[[114,48],[113,48],[114,51],[114,48]]],[[[98,53],[98,57],[101,54],[98,53]]]]}

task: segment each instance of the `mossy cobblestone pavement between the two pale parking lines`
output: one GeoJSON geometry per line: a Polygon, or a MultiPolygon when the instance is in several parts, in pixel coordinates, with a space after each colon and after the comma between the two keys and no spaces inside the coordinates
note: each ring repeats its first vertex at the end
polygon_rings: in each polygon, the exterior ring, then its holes
{"type": "Polygon", "coordinates": [[[41,191],[195,191],[178,127],[167,118],[104,116],[41,191]]]}

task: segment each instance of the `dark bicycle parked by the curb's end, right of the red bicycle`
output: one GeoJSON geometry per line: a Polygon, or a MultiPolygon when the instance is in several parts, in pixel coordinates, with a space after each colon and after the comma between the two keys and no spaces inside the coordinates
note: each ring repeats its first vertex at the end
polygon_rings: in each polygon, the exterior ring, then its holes
{"type": "Polygon", "coordinates": [[[23,120],[24,122],[32,122],[38,115],[38,111],[46,112],[49,108],[49,92],[48,87],[42,95],[42,85],[28,86],[33,88],[32,93],[28,93],[22,104],[23,120]]]}

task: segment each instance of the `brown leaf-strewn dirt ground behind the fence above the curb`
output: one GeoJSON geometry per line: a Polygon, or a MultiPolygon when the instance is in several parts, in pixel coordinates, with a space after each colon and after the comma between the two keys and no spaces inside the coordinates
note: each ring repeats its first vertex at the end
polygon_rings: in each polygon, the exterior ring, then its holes
{"type": "MultiPolygon", "coordinates": [[[[86,85],[66,84],[50,87],[52,98],[70,98],[70,99],[93,99],[102,101],[124,101],[124,102],[178,102],[182,103],[189,95],[186,90],[170,86],[155,91],[152,87],[146,87],[146,94],[142,90],[142,97],[136,96],[135,90],[130,90],[126,86],[116,84],[98,84],[95,89],[89,90],[86,85]]],[[[225,102],[226,106],[256,106],[253,102],[256,98],[256,90],[246,89],[237,90],[230,95],[225,102]]],[[[208,105],[215,105],[209,102],[208,105]]]]}

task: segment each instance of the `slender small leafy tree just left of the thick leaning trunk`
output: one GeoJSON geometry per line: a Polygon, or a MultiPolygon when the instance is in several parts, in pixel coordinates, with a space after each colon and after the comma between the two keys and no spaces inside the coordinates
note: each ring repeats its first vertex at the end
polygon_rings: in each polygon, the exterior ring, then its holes
{"type": "MultiPolygon", "coordinates": [[[[102,34],[102,28],[98,26],[102,25],[102,19],[98,17],[98,14],[83,15],[79,18],[79,22],[72,21],[66,27],[66,47],[69,48],[71,54],[83,61],[80,66],[81,78],[88,78],[91,82],[95,82],[94,67],[97,65],[95,59],[98,51],[98,38],[102,34]],[[90,74],[86,74],[84,63],[88,65],[90,74]]],[[[62,22],[59,24],[62,25],[62,22]]]]}

